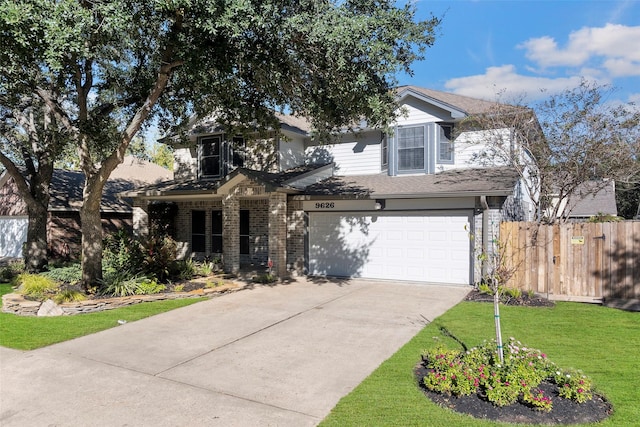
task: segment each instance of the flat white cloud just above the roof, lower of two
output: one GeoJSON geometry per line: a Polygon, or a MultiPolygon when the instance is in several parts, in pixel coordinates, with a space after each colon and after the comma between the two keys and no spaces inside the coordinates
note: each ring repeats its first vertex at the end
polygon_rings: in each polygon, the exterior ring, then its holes
{"type": "Polygon", "coordinates": [[[582,77],[547,78],[518,74],[514,65],[487,68],[484,74],[460,77],[445,83],[447,90],[459,95],[486,100],[522,100],[526,102],[546,98],[550,93],[576,87],[582,77]]]}

